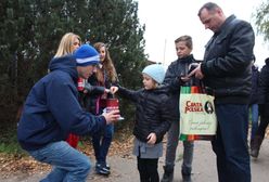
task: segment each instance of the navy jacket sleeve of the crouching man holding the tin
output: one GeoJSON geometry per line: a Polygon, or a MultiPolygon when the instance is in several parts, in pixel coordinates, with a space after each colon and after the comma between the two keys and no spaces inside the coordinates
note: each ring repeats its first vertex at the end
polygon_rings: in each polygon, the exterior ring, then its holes
{"type": "Polygon", "coordinates": [[[56,122],[65,132],[89,134],[105,126],[103,116],[93,116],[82,110],[77,90],[66,79],[52,79],[46,87],[47,103],[56,122]]]}

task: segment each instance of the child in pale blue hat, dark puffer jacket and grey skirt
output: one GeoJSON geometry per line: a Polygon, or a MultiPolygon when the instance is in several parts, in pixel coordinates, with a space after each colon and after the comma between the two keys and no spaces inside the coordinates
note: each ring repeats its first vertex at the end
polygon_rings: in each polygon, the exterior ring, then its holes
{"type": "Polygon", "coordinates": [[[163,155],[162,140],[171,122],[169,96],[161,83],[165,77],[163,66],[154,64],[143,72],[144,88],[132,91],[115,88],[119,94],[136,103],[136,123],[133,128],[133,155],[138,159],[140,181],[158,182],[158,158],[163,155]]]}

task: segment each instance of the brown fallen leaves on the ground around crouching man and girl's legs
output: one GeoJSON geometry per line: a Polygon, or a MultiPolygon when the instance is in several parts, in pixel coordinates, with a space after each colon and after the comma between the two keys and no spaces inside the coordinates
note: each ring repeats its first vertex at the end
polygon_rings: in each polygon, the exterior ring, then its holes
{"type": "MultiPolygon", "coordinates": [[[[123,130],[115,134],[110,147],[108,156],[118,155],[123,158],[130,158],[133,136],[129,130],[123,130]]],[[[94,157],[92,144],[89,138],[82,138],[78,150],[90,158],[94,157]]],[[[9,178],[16,173],[30,176],[33,173],[48,172],[51,166],[39,162],[28,155],[7,155],[0,153],[0,174],[9,178]]]]}

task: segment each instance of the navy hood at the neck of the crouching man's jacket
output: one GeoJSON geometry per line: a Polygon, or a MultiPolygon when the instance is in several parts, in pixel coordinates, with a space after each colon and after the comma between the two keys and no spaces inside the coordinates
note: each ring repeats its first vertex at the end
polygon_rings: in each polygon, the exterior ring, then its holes
{"type": "Polygon", "coordinates": [[[78,78],[77,64],[73,55],[53,57],[49,64],[49,70],[62,70],[68,73],[74,80],[78,78]]]}

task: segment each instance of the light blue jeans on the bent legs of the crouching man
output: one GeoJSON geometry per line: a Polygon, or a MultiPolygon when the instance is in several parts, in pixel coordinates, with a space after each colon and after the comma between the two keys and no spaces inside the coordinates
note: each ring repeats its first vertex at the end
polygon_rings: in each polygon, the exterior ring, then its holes
{"type": "Polygon", "coordinates": [[[53,166],[41,182],[85,182],[91,168],[89,157],[64,141],[28,153],[38,161],[53,166]]]}

